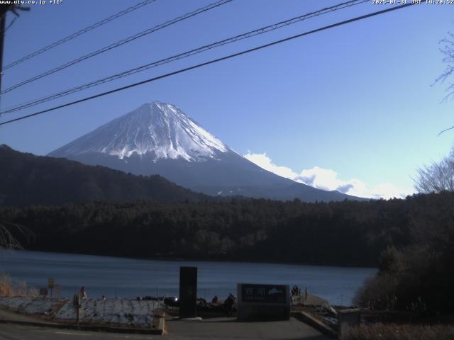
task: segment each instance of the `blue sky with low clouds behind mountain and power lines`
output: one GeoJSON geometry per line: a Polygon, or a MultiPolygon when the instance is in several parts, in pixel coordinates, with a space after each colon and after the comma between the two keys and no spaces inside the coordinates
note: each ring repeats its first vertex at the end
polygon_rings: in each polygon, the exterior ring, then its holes
{"type": "MultiPolygon", "coordinates": [[[[6,32],[4,64],[138,1],[63,0],[31,5],[6,32]]],[[[6,70],[3,89],[214,1],[157,0],[6,70]]],[[[106,77],[341,1],[234,0],[63,72],[16,89],[1,108],[106,77]]],[[[10,113],[16,118],[214,57],[385,8],[372,2],[311,18],[216,50],[10,113]]],[[[448,154],[454,103],[445,86],[441,40],[454,5],[419,5],[285,42],[234,60],[1,126],[0,143],[46,154],[153,100],[173,103],[240,154],[267,169],[312,179],[321,188],[399,196],[413,191],[416,168],[448,154]],[[315,180],[314,180],[315,179],[315,180]]],[[[9,16],[9,21],[11,20],[9,16]]],[[[306,183],[306,182],[305,182],[306,183]]]]}

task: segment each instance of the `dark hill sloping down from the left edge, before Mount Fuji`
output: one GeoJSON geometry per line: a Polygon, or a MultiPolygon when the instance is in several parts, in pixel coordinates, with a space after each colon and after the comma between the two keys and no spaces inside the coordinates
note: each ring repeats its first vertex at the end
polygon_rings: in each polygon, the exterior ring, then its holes
{"type": "Polygon", "coordinates": [[[0,145],[0,205],[62,205],[97,200],[199,202],[209,196],[161,176],[135,176],[104,166],[25,154],[0,145]]]}

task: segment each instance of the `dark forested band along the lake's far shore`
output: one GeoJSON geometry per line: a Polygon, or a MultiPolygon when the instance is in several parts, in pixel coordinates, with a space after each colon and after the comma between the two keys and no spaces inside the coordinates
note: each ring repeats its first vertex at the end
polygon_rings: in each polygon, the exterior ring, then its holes
{"type": "Polygon", "coordinates": [[[1,208],[0,219],[31,229],[26,248],[43,251],[377,266],[389,246],[409,246],[416,229],[433,227],[428,211],[453,200],[453,193],[337,203],[138,200],[1,208]]]}

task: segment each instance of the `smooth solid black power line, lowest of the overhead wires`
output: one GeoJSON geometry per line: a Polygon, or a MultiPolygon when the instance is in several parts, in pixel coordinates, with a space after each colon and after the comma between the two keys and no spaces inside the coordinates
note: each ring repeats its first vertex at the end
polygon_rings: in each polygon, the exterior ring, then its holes
{"type": "Polygon", "coordinates": [[[62,104],[62,105],[59,105],[59,106],[54,106],[53,108],[48,108],[48,109],[45,109],[43,111],[38,111],[36,113],[31,113],[30,115],[23,115],[22,117],[19,117],[19,118],[6,120],[5,122],[0,123],[0,125],[13,123],[13,122],[16,122],[18,120],[23,120],[23,119],[26,119],[26,118],[33,117],[35,115],[41,115],[43,113],[48,113],[50,111],[55,111],[55,110],[57,110],[59,108],[65,108],[67,106],[72,106],[74,104],[82,103],[84,101],[89,101],[89,100],[92,100],[94,98],[99,98],[99,97],[102,97],[102,96],[106,96],[108,94],[114,94],[115,92],[123,91],[123,90],[126,90],[126,89],[131,89],[132,87],[139,86],[139,85],[146,84],[146,83],[150,83],[150,82],[156,81],[158,79],[171,77],[171,76],[173,76],[175,74],[180,74],[180,73],[183,73],[183,72],[187,72],[187,71],[190,71],[192,69],[198,69],[199,67],[204,67],[204,66],[209,65],[209,64],[214,64],[216,62],[221,62],[223,60],[228,60],[228,59],[231,59],[233,57],[238,57],[240,55],[248,54],[250,52],[254,52],[254,51],[257,51],[257,50],[262,50],[262,49],[264,49],[266,47],[277,45],[277,44],[280,44],[282,42],[286,42],[286,41],[289,41],[289,40],[294,40],[296,38],[301,38],[301,37],[303,37],[305,35],[309,35],[309,34],[312,34],[312,33],[320,32],[322,30],[328,30],[329,28],[335,28],[337,26],[342,26],[342,25],[345,25],[347,23],[353,23],[354,21],[360,21],[362,19],[370,18],[372,16],[377,16],[377,15],[380,15],[380,14],[383,14],[383,13],[387,13],[387,12],[390,12],[390,11],[396,11],[396,10],[401,9],[401,8],[405,8],[405,7],[408,7],[408,6],[413,6],[414,4],[418,4],[418,3],[415,2],[415,3],[410,3],[410,4],[403,4],[403,5],[400,5],[400,6],[394,6],[392,8],[383,9],[382,11],[376,11],[376,12],[373,12],[373,13],[368,13],[368,14],[365,14],[363,16],[357,16],[355,18],[351,18],[351,19],[348,19],[348,20],[345,20],[345,21],[341,21],[341,22],[338,22],[338,23],[333,23],[333,24],[328,25],[328,26],[323,26],[321,28],[316,28],[315,30],[309,30],[308,32],[300,33],[300,34],[297,34],[297,35],[292,35],[291,37],[284,38],[284,39],[281,39],[281,40],[275,40],[275,41],[269,42],[269,43],[267,43],[265,45],[260,45],[258,47],[250,48],[249,50],[243,50],[241,52],[233,53],[232,55],[227,55],[225,57],[217,58],[217,59],[214,59],[214,60],[209,60],[208,62],[202,62],[201,64],[196,64],[196,65],[193,65],[191,67],[186,67],[184,69],[179,69],[179,70],[174,71],[174,72],[170,72],[170,73],[167,73],[167,74],[162,74],[162,75],[160,75],[158,77],[146,79],[146,80],[143,80],[143,81],[138,81],[137,83],[129,84],[127,86],[122,86],[122,87],[119,87],[119,88],[111,90],[111,91],[102,92],[101,94],[95,94],[94,96],[89,96],[89,97],[86,97],[86,98],[79,99],[77,101],[72,101],[70,103],[65,103],[65,104],[62,104]]]}

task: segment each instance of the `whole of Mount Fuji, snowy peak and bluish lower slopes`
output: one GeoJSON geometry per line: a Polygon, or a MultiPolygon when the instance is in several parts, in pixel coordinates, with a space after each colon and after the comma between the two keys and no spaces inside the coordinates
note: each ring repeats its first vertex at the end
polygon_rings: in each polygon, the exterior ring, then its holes
{"type": "Polygon", "coordinates": [[[159,174],[212,196],[306,202],[352,199],[272,174],[169,103],[146,103],[48,154],[136,175],[159,174]]]}

